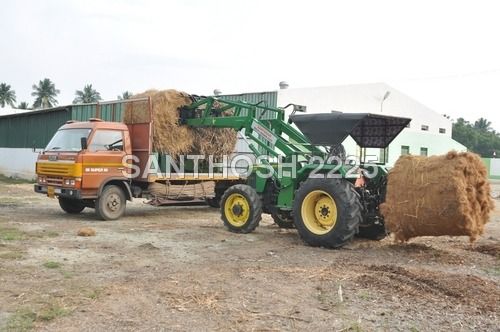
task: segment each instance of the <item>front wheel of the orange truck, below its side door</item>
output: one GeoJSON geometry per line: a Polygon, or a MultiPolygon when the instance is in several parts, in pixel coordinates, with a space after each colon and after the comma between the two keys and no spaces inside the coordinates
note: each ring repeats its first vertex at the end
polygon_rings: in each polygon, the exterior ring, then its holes
{"type": "Polygon", "coordinates": [[[116,220],[125,212],[127,200],[123,190],[115,185],[104,187],[96,199],[95,211],[102,220],[116,220]]]}

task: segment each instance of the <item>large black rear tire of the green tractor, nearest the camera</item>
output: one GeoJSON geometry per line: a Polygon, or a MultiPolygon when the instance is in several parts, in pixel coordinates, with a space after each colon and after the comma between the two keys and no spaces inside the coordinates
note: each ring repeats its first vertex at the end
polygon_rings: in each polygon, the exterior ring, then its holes
{"type": "Polygon", "coordinates": [[[353,185],[344,179],[304,181],[295,195],[293,215],[295,227],[304,242],[314,247],[325,248],[339,248],[349,242],[356,234],[362,220],[358,195],[354,192],[353,185]],[[309,194],[312,195],[311,198],[309,194]],[[314,200],[314,195],[319,195],[321,199],[314,200]],[[302,206],[306,198],[304,210],[305,213],[312,213],[312,218],[302,215],[302,206]],[[319,221],[316,224],[311,222],[311,219],[318,220],[314,218],[317,216],[316,208],[323,200],[334,201],[331,203],[331,210],[335,208],[334,212],[330,211],[330,206],[325,208],[320,206],[321,211],[318,211],[318,214],[326,218],[331,226],[324,226],[319,221]],[[323,212],[324,210],[326,212],[323,212]],[[317,229],[312,230],[313,225],[317,229]]]}

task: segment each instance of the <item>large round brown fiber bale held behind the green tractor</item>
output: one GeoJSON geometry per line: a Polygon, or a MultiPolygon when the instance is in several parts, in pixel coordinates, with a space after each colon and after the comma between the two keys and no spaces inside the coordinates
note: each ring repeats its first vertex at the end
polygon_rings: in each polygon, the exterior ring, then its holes
{"type": "Polygon", "coordinates": [[[380,207],[398,241],[417,236],[483,233],[494,203],[484,164],[470,152],[402,156],[388,176],[380,207]]]}

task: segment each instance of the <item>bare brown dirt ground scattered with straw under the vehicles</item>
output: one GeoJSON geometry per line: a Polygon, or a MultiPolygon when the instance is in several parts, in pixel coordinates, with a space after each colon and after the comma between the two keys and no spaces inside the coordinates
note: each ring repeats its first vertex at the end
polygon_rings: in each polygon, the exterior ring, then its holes
{"type": "Polygon", "coordinates": [[[326,250],[268,216],[238,235],[216,209],[136,200],[103,222],[0,182],[0,330],[498,330],[496,204],[474,245],[356,239],[326,250]],[[85,226],[97,234],[77,236],[85,226]]]}

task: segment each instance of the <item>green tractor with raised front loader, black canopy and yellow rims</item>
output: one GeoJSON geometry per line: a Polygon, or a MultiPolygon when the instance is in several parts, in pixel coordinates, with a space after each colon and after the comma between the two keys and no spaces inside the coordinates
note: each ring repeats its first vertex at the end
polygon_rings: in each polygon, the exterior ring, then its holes
{"type": "MultiPolygon", "coordinates": [[[[259,161],[242,183],[216,188],[225,226],[252,232],[270,214],[283,228],[296,228],[311,246],[338,248],[355,235],[386,235],[379,205],[387,170],[381,164],[353,162],[341,143],[351,136],[361,147],[387,149],[411,121],[369,113],[297,114],[285,108],[192,96],[180,109],[191,127],[233,128],[259,161]],[[298,129],[297,129],[298,128],[298,129]]],[[[363,158],[363,156],[360,156],[363,158]]],[[[366,155],[364,156],[366,159],[366,155]]]]}

